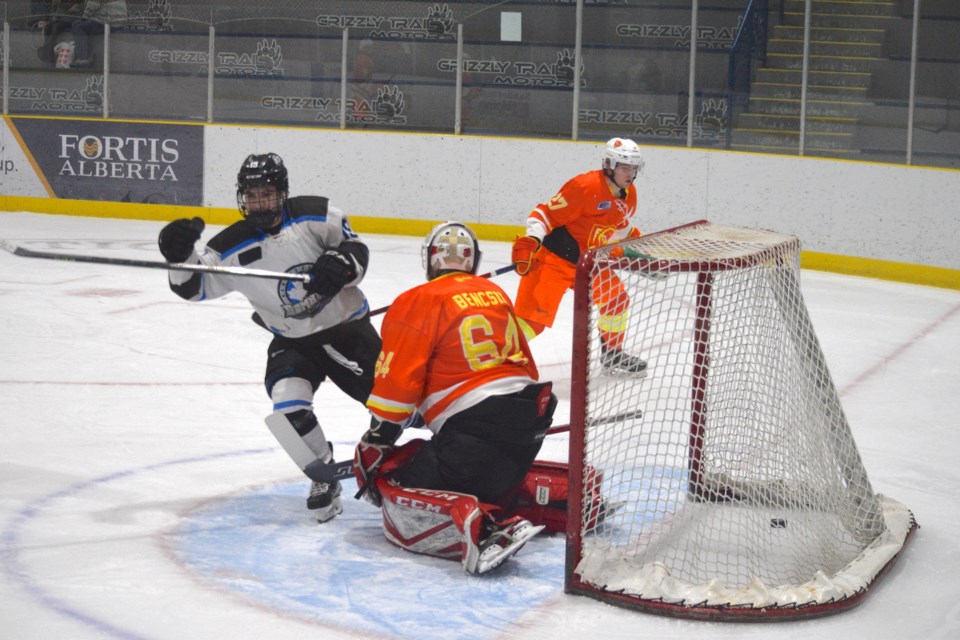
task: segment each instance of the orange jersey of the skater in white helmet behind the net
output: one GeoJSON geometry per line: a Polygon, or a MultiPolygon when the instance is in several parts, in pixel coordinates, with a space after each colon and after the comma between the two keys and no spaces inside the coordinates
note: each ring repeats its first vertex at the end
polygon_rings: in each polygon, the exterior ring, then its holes
{"type": "Polygon", "coordinates": [[[631,230],[636,210],[635,186],[631,184],[620,198],[601,169],[588,171],[568,180],[549,202],[538,204],[530,212],[527,235],[542,242],[546,238],[544,246],[576,262],[579,254],[587,249],[638,237],[639,231],[631,230]],[[563,237],[558,238],[555,231],[563,237]],[[565,246],[571,238],[576,247],[565,246]]]}

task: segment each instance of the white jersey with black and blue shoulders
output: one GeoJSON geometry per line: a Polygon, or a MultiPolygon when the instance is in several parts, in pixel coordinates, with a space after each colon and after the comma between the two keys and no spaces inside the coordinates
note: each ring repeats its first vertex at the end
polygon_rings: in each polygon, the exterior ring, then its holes
{"type": "MultiPolygon", "coordinates": [[[[326,198],[300,196],[287,200],[283,224],[276,235],[240,220],[214,236],[186,262],[307,273],[324,252],[344,243],[365,248],[341,210],[328,206],[326,198]]],[[[367,255],[366,251],[362,254],[367,255]]],[[[363,280],[367,261],[354,262],[359,263],[357,277],[333,297],[308,294],[297,280],[184,271],[170,272],[170,288],[181,298],[195,301],[236,291],[250,301],[267,329],[288,338],[300,338],[359,319],[369,311],[367,299],[357,286],[363,280]]]]}

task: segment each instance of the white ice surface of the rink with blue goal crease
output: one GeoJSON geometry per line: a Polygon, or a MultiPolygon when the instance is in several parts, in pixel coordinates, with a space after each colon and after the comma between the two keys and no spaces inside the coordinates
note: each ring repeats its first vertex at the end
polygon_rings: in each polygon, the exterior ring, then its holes
{"type": "MultiPolygon", "coordinates": [[[[161,225],[3,213],[0,238],[159,260],[161,225]]],[[[419,238],[365,239],[372,307],[422,281],[419,238]]],[[[483,249],[482,271],[509,259],[506,243],[483,249]]],[[[515,275],[497,281],[516,292],[515,275]]],[[[308,483],[263,423],[269,336],[242,297],[191,304],[161,271],[0,251],[0,635],[958,638],[960,292],[810,271],[802,283],[873,486],[921,529],[860,607],[771,627],[567,596],[560,536],[468,576],[388,544],[349,482],[343,515],[318,526],[308,483]]],[[[561,421],[570,302],[533,342],[561,421]]],[[[344,457],[365,411],[329,383],[316,404],[344,457]]],[[[564,459],[565,438],[551,436],[543,457],[564,459]]]]}

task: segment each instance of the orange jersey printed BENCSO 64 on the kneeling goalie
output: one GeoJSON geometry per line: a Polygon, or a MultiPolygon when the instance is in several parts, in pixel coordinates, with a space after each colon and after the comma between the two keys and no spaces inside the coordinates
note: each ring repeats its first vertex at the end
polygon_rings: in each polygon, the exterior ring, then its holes
{"type": "Polygon", "coordinates": [[[449,416],[539,377],[510,298],[479,276],[450,273],[404,292],[381,337],[367,408],[382,420],[419,411],[436,433],[449,416]]]}

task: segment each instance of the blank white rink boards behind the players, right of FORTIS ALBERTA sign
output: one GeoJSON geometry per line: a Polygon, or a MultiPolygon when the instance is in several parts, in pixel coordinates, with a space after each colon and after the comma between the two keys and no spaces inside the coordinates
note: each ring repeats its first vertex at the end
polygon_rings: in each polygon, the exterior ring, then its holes
{"type": "MultiPolygon", "coordinates": [[[[366,131],[206,127],[204,202],[233,207],[248,153],[280,153],[291,192],[354,216],[520,226],[601,143],[366,131]]],[[[805,251],[960,268],[960,172],[903,165],[643,147],[638,226],[692,220],[799,236],[805,251]]]]}

